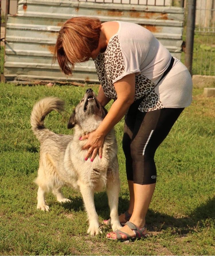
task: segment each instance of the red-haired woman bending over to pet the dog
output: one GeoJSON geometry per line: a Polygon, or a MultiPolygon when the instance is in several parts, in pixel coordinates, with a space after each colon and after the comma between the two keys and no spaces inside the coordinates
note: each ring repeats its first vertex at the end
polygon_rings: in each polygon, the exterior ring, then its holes
{"type": "MultiPolygon", "coordinates": [[[[77,62],[92,58],[101,86],[97,99],[110,111],[87,142],[85,160],[97,151],[102,157],[105,135],[125,116],[122,141],[130,191],[125,224],[107,234],[109,239],[146,237],[145,216],[156,183],[154,155],[171,127],[192,101],[192,79],[186,67],[137,24],[104,22],[95,17],[75,17],[60,29],[55,57],[61,70],[71,75],[77,62]]],[[[105,221],[107,224],[108,221],[105,221]]]]}

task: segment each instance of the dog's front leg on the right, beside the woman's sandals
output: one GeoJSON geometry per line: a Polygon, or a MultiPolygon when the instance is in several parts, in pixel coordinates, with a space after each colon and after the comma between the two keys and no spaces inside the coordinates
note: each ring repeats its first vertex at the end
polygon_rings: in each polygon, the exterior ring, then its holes
{"type": "Polygon", "coordinates": [[[118,216],[118,200],[120,193],[120,180],[116,177],[116,179],[110,179],[107,183],[107,197],[108,204],[110,206],[110,218],[111,218],[111,226],[113,230],[120,229],[122,226],[119,221],[118,216]]]}

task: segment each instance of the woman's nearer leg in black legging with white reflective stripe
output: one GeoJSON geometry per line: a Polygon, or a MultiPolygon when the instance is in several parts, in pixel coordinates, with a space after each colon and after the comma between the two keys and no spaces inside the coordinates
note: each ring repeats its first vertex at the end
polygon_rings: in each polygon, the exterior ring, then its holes
{"type": "MultiPolygon", "coordinates": [[[[157,177],[154,162],[155,151],[166,138],[182,111],[183,109],[165,108],[147,113],[140,112],[136,117],[131,142],[134,210],[130,222],[140,228],[145,225],[146,212],[155,190],[157,177]]],[[[127,225],[121,230],[134,236],[134,232],[127,225]]],[[[143,234],[145,233],[146,230],[143,234]]],[[[121,236],[125,238],[123,234],[121,236]]],[[[107,237],[116,238],[116,234],[111,232],[107,234],[107,237]]]]}

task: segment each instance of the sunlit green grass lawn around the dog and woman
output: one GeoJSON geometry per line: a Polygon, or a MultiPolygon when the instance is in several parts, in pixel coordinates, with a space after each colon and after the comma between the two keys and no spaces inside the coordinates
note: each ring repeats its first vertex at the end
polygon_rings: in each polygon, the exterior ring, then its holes
{"type": "MultiPolygon", "coordinates": [[[[105,239],[110,231],[102,225],[109,217],[105,192],[95,194],[103,230],[96,237],[87,235],[82,198],[72,189],[63,189],[72,203],[59,204],[49,194],[50,212],[36,210],[39,142],[30,128],[32,107],[46,96],[64,99],[66,111],[51,113],[45,123],[54,132],[70,134],[69,115],[86,88],[0,83],[0,255],[215,255],[215,99],[202,97],[202,89],[194,89],[192,105],[156,152],[158,178],[146,216],[147,239],[133,243],[105,239]]],[[[127,210],[129,202],[122,135],[123,120],[116,125],[119,213],[127,210]]]]}

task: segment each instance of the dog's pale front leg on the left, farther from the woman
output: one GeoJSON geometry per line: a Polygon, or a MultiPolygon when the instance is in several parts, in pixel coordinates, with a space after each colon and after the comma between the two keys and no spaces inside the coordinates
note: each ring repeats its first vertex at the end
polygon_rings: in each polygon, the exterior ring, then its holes
{"type": "Polygon", "coordinates": [[[89,218],[89,228],[87,233],[90,233],[92,236],[97,235],[99,232],[101,233],[101,230],[99,228],[99,218],[95,211],[94,192],[90,187],[83,184],[80,184],[80,191],[89,218]]]}

